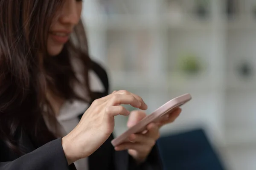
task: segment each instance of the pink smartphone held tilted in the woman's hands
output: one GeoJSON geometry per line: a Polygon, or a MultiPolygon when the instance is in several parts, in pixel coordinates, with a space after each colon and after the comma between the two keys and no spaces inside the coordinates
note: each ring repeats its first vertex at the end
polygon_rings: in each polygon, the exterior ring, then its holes
{"type": "Polygon", "coordinates": [[[142,133],[144,130],[146,130],[146,127],[151,122],[159,122],[161,119],[163,119],[163,116],[166,113],[172,113],[172,111],[175,111],[176,108],[184,105],[186,102],[189,102],[192,97],[190,94],[183,94],[182,96],[178,96],[169,102],[162,105],[160,108],[155,110],[153,113],[145,116],[140,122],[138,122],[136,125],[130,127],[128,130],[126,130],[124,133],[122,133],[120,136],[116,137],[111,141],[111,144],[115,147],[119,144],[122,144],[124,142],[129,142],[128,137],[133,133],[142,133]]]}

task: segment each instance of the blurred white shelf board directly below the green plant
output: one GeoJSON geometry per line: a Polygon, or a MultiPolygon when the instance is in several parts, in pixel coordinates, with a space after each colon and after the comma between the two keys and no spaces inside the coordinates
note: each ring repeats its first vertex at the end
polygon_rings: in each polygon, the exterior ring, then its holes
{"type": "Polygon", "coordinates": [[[169,89],[170,91],[219,90],[220,83],[207,74],[182,75],[170,73],[152,75],[136,71],[111,71],[113,88],[169,89]],[[168,80],[169,79],[169,80],[168,80]]]}

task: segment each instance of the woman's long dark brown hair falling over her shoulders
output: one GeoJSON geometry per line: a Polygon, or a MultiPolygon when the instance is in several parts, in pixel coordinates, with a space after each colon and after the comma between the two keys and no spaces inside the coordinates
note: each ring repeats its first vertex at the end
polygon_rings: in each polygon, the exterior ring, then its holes
{"type": "Polygon", "coordinates": [[[62,0],[0,0],[0,139],[18,153],[16,134],[21,131],[38,147],[56,138],[42,116],[56,122],[46,91],[65,100],[87,101],[73,90],[79,83],[92,98],[91,60],[81,22],[58,56],[47,54],[47,33],[62,4],[62,0]],[[83,82],[75,75],[71,57],[83,65],[83,82]]]}

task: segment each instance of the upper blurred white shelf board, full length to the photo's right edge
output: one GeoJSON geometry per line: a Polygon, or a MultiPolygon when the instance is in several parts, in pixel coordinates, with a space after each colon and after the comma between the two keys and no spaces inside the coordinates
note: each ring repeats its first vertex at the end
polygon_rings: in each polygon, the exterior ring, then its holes
{"type": "MultiPolygon", "coordinates": [[[[200,31],[213,30],[217,25],[220,29],[224,29],[226,25],[221,26],[222,22],[216,23],[212,20],[200,20],[193,18],[185,18],[181,20],[172,20],[166,15],[160,15],[158,19],[143,18],[136,15],[113,15],[101,17],[87,18],[84,21],[88,29],[102,30],[134,30],[148,29],[156,30],[164,28],[164,24],[173,30],[179,29],[183,31],[200,31]]],[[[217,28],[218,28],[217,27],[217,28]]],[[[235,20],[227,21],[227,30],[255,30],[256,19],[243,17],[235,20]]]]}

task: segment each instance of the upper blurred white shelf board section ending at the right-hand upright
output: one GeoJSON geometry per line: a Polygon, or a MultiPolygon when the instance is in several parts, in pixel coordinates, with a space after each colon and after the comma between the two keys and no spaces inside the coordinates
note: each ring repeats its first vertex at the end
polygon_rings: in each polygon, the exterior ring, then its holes
{"type": "Polygon", "coordinates": [[[138,15],[101,15],[95,18],[87,18],[86,26],[89,29],[134,30],[134,29],[162,29],[167,24],[168,28],[186,31],[211,30],[215,23],[212,20],[200,20],[195,18],[183,18],[172,20],[168,15],[158,17],[143,17],[138,15]]]}

